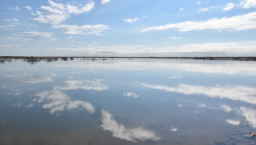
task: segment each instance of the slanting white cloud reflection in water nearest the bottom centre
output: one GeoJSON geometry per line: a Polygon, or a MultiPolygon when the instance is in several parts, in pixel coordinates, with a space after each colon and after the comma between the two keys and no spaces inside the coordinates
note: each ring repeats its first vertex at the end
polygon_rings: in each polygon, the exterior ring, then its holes
{"type": "Polygon", "coordinates": [[[104,130],[112,132],[113,137],[118,137],[126,139],[127,141],[136,142],[136,140],[145,141],[147,139],[159,140],[160,137],[157,137],[155,132],[143,129],[141,127],[128,128],[124,125],[118,123],[112,116],[105,110],[101,111],[101,127],[104,130]]]}

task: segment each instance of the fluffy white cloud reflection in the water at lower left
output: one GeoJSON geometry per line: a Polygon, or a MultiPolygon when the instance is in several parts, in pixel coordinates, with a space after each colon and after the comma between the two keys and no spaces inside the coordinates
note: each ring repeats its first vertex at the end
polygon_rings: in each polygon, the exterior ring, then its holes
{"type": "Polygon", "coordinates": [[[62,93],[60,90],[42,91],[35,94],[35,96],[39,97],[39,99],[35,99],[35,101],[37,101],[37,103],[41,103],[42,108],[50,108],[50,114],[75,108],[85,108],[89,113],[94,113],[94,107],[91,103],[81,100],[71,101],[70,97],[62,93]]]}

